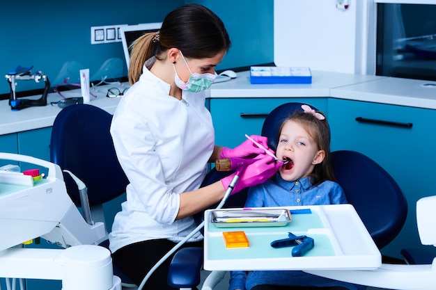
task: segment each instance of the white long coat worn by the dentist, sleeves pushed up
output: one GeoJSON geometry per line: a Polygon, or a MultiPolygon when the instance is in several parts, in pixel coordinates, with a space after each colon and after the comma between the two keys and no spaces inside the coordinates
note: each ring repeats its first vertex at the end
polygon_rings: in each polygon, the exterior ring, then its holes
{"type": "Polygon", "coordinates": [[[175,220],[179,194],[203,181],[215,133],[204,92],[183,92],[180,101],[169,90],[144,66],[114,113],[111,136],[130,184],[109,234],[112,252],[150,239],[178,242],[196,227],[192,217],[175,220]]]}

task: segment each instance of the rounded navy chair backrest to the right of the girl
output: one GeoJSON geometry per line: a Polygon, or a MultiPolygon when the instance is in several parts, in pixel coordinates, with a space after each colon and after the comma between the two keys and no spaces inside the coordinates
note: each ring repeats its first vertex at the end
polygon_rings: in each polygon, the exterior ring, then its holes
{"type": "Polygon", "coordinates": [[[395,180],[368,156],[355,151],[332,152],[332,166],[379,249],[390,243],[407,217],[407,201],[395,180]]]}

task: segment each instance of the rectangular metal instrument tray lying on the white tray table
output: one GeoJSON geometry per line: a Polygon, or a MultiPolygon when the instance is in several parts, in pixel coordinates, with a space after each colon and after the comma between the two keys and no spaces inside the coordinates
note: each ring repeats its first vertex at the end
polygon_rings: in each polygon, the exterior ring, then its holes
{"type": "Polygon", "coordinates": [[[210,215],[216,227],[281,227],[291,220],[288,209],[218,209],[210,215]]]}

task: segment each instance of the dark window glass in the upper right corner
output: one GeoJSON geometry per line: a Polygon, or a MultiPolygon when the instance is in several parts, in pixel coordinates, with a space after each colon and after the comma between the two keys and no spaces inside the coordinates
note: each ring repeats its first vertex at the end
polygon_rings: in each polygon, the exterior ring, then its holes
{"type": "Polygon", "coordinates": [[[375,74],[436,81],[436,5],[377,5],[375,74]]]}

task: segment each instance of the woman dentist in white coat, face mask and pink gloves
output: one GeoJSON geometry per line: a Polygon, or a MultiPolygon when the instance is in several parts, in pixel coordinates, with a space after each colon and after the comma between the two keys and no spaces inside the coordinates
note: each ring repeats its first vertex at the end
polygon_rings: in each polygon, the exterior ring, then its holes
{"type": "MultiPolygon", "coordinates": [[[[159,32],[141,36],[132,47],[132,86],[111,124],[130,184],[109,239],[114,264],[138,285],[196,227],[192,214],[223,198],[232,176],[199,188],[208,161],[256,156],[240,173],[233,193],[265,182],[283,164],[249,140],[234,149],[215,146],[204,90],[230,46],[221,19],[208,8],[188,4],[166,15],[159,32]]],[[[253,137],[267,147],[266,138],[253,137]]],[[[187,245],[202,246],[202,239],[197,233],[187,245]]],[[[166,283],[170,260],[143,289],[172,289],[166,283]]]]}

